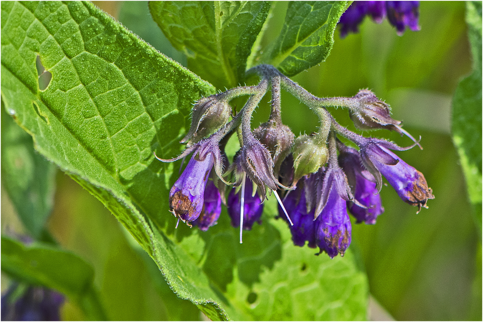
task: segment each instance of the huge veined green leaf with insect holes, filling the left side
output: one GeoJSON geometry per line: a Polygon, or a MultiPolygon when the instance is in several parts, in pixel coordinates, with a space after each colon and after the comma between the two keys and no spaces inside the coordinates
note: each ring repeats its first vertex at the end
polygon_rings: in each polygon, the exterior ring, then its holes
{"type": "Polygon", "coordinates": [[[213,87],[88,2],[1,6],[1,94],[7,111],[41,154],[128,228],[176,294],[213,319],[226,319],[206,276],[152,223],[166,209],[153,212],[149,206],[159,199],[166,204],[170,168],[153,162],[153,150],[179,151],[173,143],[185,132],[191,103],[213,87]],[[37,53],[52,73],[43,92],[37,53]]]}

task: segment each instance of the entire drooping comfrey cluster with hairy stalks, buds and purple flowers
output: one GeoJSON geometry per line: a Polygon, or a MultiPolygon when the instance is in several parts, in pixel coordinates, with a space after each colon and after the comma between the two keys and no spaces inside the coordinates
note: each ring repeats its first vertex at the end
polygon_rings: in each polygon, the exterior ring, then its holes
{"type": "MultiPolygon", "coordinates": [[[[427,208],[433,199],[423,174],[401,160],[394,151],[420,146],[401,122],[390,115],[390,108],[374,93],[364,89],[350,98],[318,98],[270,65],[259,65],[247,71],[257,74],[256,86],[240,86],[199,100],[193,108],[188,135],[182,140],[188,148],[172,162],[192,154],[188,165],[170,191],[170,210],[186,224],[201,230],[216,224],[220,216],[222,196],[230,189],[227,202],[233,226],[251,229],[259,222],[267,191],[280,205],[280,216],[286,218],[295,245],[318,246],[330,257],[344,254],[351,243],[351,222],[347,209],[358,223],[375,224],[384,212],[379,192],[382,176],[401,199],[410,205],[427,208]],[[251,117],[270,85],[271,113],[269,121],[251,128],[251,117]],[[281,88],[309,106],[319,117],[317,133],[295,138],[282,124],[281,88]],[[250,95],[243,108],[228,121],[235,97],[250,95]],[[385,128],[414,141],[409,147],[376,138],[366,138],[341,126],[327,107],[349,109],[359,129],[385,128]],[[240,151],[233,163],[227,163],[220,142],[235,133],[240,151]],[[212,134],[211,134],[212,133],[212,134]],[[211,135],[210,135],[211,134],[211,135]],[[344,145],[341,136],[359,147],[344,145]],[[214,168],[214,175],[212,169],[214,168]],[[226,178],[231,176],[232,181],[226,178]],[[233,186],[233,187],[232,187],[233,186]],[[280,196],[284,196],[284,201],[280,196]]],[[[420,146],[421,147],[421,146],[420,146]]]]}

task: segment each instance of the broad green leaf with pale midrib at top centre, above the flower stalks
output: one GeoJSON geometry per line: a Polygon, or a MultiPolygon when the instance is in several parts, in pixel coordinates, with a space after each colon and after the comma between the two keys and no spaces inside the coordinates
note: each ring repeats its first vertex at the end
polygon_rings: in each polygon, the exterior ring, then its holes
{"type": "Polygon", "coordinates": [[[154,20],[188,67],[217,88],[243,81],[269,1],[150,1],[154,20]]]}

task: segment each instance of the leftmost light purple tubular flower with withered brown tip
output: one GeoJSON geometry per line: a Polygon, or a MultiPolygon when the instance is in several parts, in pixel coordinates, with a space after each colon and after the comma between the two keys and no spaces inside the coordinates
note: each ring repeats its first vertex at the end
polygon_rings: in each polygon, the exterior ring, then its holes
{"type": "Polygon", "coordinates": [[[197,161],[196,153],[194,153],[185,171],[172,186],[170,210],[184,222],[194,221],[201,214],[206,182],[213,164],[211,154],[207,155],[203,161],[197,161]]]}

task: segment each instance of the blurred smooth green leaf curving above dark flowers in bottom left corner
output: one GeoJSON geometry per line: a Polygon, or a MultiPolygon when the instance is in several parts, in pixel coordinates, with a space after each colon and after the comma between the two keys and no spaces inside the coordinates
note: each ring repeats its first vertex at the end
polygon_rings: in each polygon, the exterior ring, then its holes
{"type": "Polygon", "coordinates": [[[77,302],[89,320],[106,320],[92,284],[94,270],[71,252],[1,237],[1,269],[16,280],[56,289],[77,302]]]}

